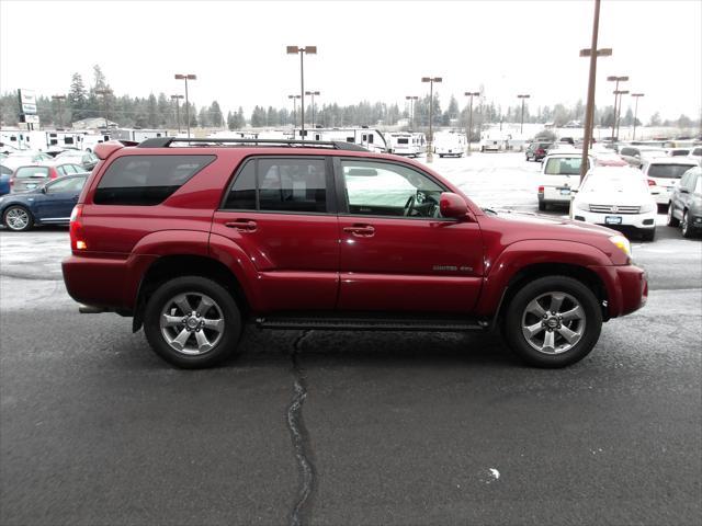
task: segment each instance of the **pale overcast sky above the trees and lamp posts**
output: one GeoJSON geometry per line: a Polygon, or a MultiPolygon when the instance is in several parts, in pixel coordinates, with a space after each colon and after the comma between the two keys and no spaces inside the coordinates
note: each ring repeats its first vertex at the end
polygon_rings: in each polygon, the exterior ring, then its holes
{"type": "MultiPolygon", "coordinates": [[[[397,102],[422,95],[422,76],[451,94],[573,103],[587,96],[593,0],[562,1],[0,1],[0,87],[65,93],[73,71],[92,82],[100,64],[115,94],[182,92],[176,72],[197,75],[195,104],[283,106],[299,92],[299,60],[286,45],[317,45],[305,88],[319,102],[397,102]]],[[[612,104],[608,75],[646,95],[639,116],[702,111],[702,1],[603,0],[598,105],[612,104]]],[[[624,110],[629,104],[625,100],[624,110]]]]}

